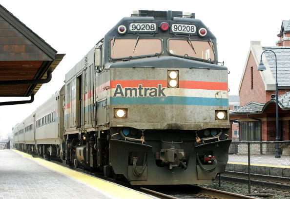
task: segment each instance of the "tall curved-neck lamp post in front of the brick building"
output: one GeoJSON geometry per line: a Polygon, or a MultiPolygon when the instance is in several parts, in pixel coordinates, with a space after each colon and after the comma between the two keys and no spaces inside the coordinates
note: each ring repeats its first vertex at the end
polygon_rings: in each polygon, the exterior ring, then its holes
{"type": "MultiPolygon", "coordinates": [[[[263,53],[261,54],[261,60],[260,60],[260,64],[258,66],[258,71],[263,71],[266,70],[266,67],[262,61],[262,55],[266,52],[266,51],[270,51],[275,55],[275,64],[276,64],[276,141],[279,141],[280,137],[279,137],[279,115],[278,115],[278,77],[277,77],[277,56],[274,53],[274,51],[272,50],[264,50],[263,53]]],[[[275,145],[275,158],[281,158],[280,156],[280,151],[279,151],[279,144],[276,143],[275,145]]]]}

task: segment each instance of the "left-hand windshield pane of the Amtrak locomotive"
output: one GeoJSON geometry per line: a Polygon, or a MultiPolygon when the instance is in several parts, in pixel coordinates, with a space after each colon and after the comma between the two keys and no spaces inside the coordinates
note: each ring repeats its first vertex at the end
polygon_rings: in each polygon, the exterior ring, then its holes
{"type": "Polygon", "coordinates": [[[152,56],[162,53],[160,39],[113,39],[111,40],[111,58],[152,56]]]}

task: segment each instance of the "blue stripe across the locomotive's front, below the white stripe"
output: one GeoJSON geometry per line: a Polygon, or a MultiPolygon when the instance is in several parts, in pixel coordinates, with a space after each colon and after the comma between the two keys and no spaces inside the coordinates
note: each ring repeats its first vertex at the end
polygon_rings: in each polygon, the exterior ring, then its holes
{"type": "Polygon", "coordinates": [[[168,96],[165,98],[135,97],[122,98],[111,97],[110,104],[176,104],[176,105],[197,105],[197,106],[228,106],[228,99],[177,97],[168,96]]]}

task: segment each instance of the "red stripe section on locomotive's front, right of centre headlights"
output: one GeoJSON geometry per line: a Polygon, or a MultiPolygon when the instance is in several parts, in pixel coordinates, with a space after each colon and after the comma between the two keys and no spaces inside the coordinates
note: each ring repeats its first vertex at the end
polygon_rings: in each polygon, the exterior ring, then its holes
{"type": "Polygon", "coordinates": [[[204,89],[204,90],[228,90],[227,82],[211,82],[211,81],[179,81],[179,88],[204,89]]]}

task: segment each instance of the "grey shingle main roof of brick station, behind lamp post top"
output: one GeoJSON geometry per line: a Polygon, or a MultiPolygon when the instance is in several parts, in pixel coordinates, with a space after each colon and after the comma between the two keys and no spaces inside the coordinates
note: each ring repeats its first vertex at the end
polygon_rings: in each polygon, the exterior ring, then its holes
{"type": "MultiPolygon", "coordinates": [[[[289,23],[290,24],[290,23],[289,23]]],[[[262,47],[263,50],[272,50],[277,56],[278,86],[290,86],[290,47],[262,47]]],[[[273,53],[266,52],[267,58],[274,80],[276,80],[276,65],[273,53]]]]}

